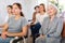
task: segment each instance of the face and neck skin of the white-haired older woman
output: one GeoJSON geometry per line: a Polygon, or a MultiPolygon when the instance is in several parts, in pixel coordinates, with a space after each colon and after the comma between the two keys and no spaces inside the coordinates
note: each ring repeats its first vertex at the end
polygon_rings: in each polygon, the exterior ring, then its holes
{"type": "Polygon", "coordinates": [[[49,5],[49,8],[48,8],[48,14],[49,14],[49,16],[50,16],[50,20],[51,20],[51,22],[52,22],[53,18],[55,17],[56,12],[57,12],[57,10],[56,10],[53,5],[49,5]]]}

